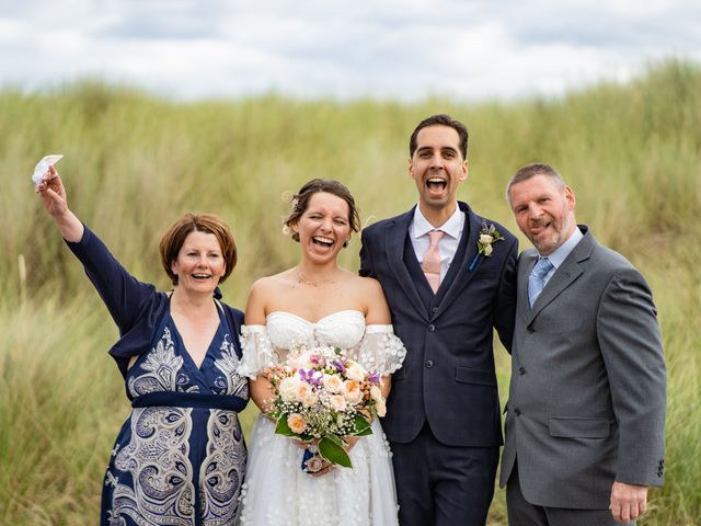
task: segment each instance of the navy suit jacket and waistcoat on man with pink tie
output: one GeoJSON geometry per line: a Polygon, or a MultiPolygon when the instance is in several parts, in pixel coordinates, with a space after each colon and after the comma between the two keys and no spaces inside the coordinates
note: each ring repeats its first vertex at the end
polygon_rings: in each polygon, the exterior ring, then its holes
{"type": "Polygon", "coordinates": [[[382,427],[390,442],[413,441],[428,421],[434,436],[450,446],[499,446],[502,423],[494,371],[493,328],[509,350],[516,309],[517,239],[474,214],[448,275],[434,296],[411,250],[414,210],[363,230],[360,275],[380,282],[406,359],[392,376],[382,427]],[[478,256],[486,224],[504,237],[491,256],[478,256]]]}

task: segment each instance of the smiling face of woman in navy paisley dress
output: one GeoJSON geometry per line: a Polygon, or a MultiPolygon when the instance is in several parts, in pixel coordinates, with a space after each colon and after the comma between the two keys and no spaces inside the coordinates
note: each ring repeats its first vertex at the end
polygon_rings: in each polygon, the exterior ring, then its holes
{"type": "Polygon", "coordinates": [[[171,265],[177,287],[187,291],[211,294],[227,264],[214,233],[189,232],[171,265]]]}

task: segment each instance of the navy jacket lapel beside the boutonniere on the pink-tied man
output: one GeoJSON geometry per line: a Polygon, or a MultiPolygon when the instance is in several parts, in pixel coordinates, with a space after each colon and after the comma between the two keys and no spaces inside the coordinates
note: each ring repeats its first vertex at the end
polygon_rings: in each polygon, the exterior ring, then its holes
{"type": "MultiPolygon", "coordinates": [[[[432,318],[440,316],[450,306],[450,304],[456,300],[480,267],[478,264],[472,272],[470,272],[470,263],[478,254],[478,239],[480,237],[480,228],[482,228],[482,224],[466,203],[458,202],[458,206],[466,215],[464,229],[462,230],[462,238],[460,239],[461,247],[464,247],[464,251],[462,251],[463,255],[460,261],[456,259],[450,264],[448,276],[446,276],[445,283],[438,288],[438,297],[436,298],[438,310],[432,318]],[[463,243],[467,243],[467,245],[463,243]],[[455,268],[456,265],[457,270],[455,268]],[[448,281],[451,276],[452,281],[448,281]],[[443,285],[446,285],[446,287],[443,285]]],[[[458,253],[460,251],[458,251],[458,253]]]]}

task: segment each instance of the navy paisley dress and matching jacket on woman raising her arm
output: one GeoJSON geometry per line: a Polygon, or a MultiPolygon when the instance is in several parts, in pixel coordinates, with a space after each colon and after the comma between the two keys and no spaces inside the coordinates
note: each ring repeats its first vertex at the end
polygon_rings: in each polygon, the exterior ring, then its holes
{"type": "Polygon", "coordinates": [[[168,294],[131,276],[87,227],[67,244],[119,329],[110,354],[133,408],[110,457],[101,526],[234,525],[246,465],[238,413],[249,387],[237,371],[243,312],[215,291],[219,327],[197,367],[168,294]]]}

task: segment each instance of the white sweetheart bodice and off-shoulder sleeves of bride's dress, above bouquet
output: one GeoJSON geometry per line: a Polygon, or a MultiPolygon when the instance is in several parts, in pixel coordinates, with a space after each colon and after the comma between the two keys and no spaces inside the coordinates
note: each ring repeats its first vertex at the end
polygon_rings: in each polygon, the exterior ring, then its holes
{"type": "Polygon", "coordinates": [[[291,312],[275,311],[267,316],[266,323],[241,328],[242,376],[255,378],[266,367],[286,363],[290,347],[299,343],[340,347],[349,358],[381,375],[394,373],[406,356],[392,325],[366,325],[358,310],[340,310],[315,323],[291,312]]]}

